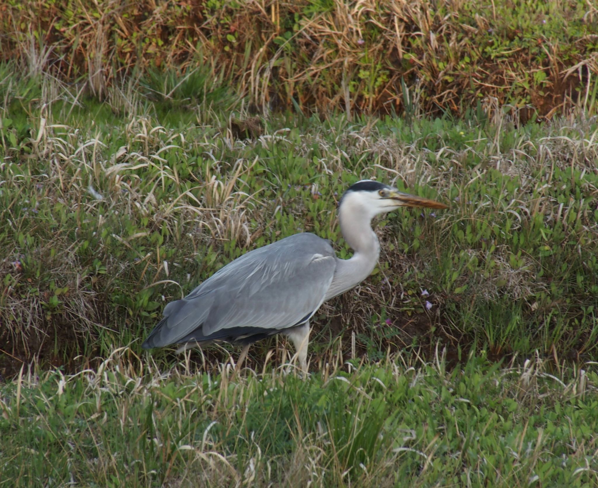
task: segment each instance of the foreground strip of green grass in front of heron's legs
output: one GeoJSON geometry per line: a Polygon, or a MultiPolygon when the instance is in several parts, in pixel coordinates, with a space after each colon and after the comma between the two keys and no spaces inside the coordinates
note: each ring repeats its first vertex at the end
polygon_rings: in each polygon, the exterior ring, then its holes
{"type": "Polygon", "coordinates": [[[598,483],[598,374],[540,360],[387,358],[307,380],[191,374],[115,351],[0,386],[7,486],[568,486],[598,483]]]}

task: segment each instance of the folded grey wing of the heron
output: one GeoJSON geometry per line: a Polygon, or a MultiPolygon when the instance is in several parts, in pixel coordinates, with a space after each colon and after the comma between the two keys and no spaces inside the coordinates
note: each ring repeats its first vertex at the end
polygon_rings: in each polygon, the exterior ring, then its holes
{"type": "Polygon", "coordinates": [[[250,251],[169,303],[143,347],[267,335],[297,326],[324,302],[335,266],[331,245],[313,234],[250,251]]]}

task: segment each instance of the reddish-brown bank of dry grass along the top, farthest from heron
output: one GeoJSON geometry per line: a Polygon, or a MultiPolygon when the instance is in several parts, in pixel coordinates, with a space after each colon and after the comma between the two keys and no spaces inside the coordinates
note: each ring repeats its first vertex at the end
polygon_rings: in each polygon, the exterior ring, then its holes
{"type": "Polygon", "coordinates": [[[496,103],[527,121],[598,108],[598,11],[582,0],[8,0],[0,31],[0,60],[100,100],[167,69],[260,110],[465,116],[496,103]]]}

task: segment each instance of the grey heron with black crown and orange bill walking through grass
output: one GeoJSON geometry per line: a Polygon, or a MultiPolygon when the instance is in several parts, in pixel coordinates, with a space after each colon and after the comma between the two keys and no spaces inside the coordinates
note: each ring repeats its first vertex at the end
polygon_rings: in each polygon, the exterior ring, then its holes
{"type": "Polygon", "coordinates": [[[326,300],[371,274],[380,255],[371,220],[399,207],[447,205],[373,180],[357,182],[338,204],[341,233],[353,249],[350,259],[338,258],[328,240],[308,232],[249,251],[168,303],[142,347],[181,344],[176,352],[182,352],[211,342],[241,343],[238,370],[252,343],[282,333],[307,372],[310,319],[326,300]]]}

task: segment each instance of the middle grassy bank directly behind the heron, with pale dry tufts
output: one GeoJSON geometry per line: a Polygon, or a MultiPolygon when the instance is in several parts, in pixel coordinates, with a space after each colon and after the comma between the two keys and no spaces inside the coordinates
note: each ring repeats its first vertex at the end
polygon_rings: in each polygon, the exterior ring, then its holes
{"type": "Polygon", "coordinates": [[[499,108],[248,118],[236,97],[157,102],[131,81],[97,103],[0,69],[12,100],[0,116],[0,374],[34,356],[71,368],[138,348],[168,300],[286,235],[315,232],[350,256],[335,207],[366,177],[450,208],[377,222],[380,266],[316,316],[315,357],[338,340],[370,360],[431,354],[438,340],[453,361],[471,348],[595,357],[597,124],[581,108],[549,124],[499,108]]]}

